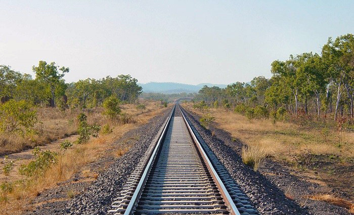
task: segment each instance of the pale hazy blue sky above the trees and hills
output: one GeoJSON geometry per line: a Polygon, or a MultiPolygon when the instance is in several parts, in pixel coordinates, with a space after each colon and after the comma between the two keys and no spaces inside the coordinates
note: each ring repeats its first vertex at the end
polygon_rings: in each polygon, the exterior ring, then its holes
{"type": "Polygon", "coordinates": [[[55,61],[67,81],[249,81],[354,33],[353,11],[354,1],[0,0],[0,64],[33,74],[55,61]]]}

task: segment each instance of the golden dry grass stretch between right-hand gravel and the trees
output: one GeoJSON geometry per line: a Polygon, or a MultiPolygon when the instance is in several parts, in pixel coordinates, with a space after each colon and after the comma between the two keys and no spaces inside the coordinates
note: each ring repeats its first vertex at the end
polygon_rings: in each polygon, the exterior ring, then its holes
{"type": "MultiPolygon", "coordinates": [[[[202,116],[205,111],[192,108],[192,103],[182,104],[186,109],[202,116]]],[[[298,132],[298,126],[290,122],[279,121],[275,124],[269,119],[249,120],[233,111],[211,108],[207,110],[218,128],[229,132],[247,145],[256,145],[268,151],[278,160],[291,161],[291,155],[309,149],[316,154],[335,154],[344,157],[354,156],[354,133],[343,132],[343,144],[338,147],[336,131],[330,131],[325,138],[318,128],[308,128],[298,132]]]]}

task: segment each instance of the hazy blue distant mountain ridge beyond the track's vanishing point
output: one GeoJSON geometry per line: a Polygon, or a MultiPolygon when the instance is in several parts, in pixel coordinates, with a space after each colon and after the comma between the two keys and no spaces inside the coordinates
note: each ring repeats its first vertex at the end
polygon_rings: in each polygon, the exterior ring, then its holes
{"type": "Polygon", "coordinates": [[[175,82],[149,82],[138,83],[145,93],[198,93],[204,85],[208,87],[226,88],[227,84],[213,84],[213,83],[199,83],[197,85],[187,83],[175,83],[175,82]]]}

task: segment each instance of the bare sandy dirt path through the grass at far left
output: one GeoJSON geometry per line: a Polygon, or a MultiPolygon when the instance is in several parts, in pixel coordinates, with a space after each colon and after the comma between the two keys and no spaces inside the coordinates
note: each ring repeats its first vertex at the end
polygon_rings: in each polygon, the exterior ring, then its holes
{"type": "MultiPolygon", "coordinates": [[[[50,150],[50,151],[54,151],[54,152],[58,152],[60,151],[60,143],[64,142],[65,140],[70,141],[71,143],[74,142],[76,139],[78,138],[78,135],[72,135],[69,136],[67,138],[63,138],[57,141],[53,141],[50,144],[47,144],[45,146],[39,146],[41,151],[45,151],[45,150],[50,150]]],[[[73,148],[77,147],[75,144],[72,146],[73,148]]],[[[0,170],[1,170],[1,174],[0,174],[0,183],[4,182],[4,181],[16,181],[16,180],[21,180],[23,178],[23,176],[21,176],[18,172],[18,168],[21,164],[26,164],[29,161],[34,159],[34,155],[33,155],[33,149],[28,149],[25,150],[23,152],[19,152],[19,153],[14,153],[14,154],[9,154],[7,155],[7,161],[11,161],[14,160],[14,166],[13,169],[10,172],[9,176],[5,176],[4,175],[4,166],[5,166],[5,162],[4,162],[4,158],[5,156],[0,156],[0,170]]]]}

